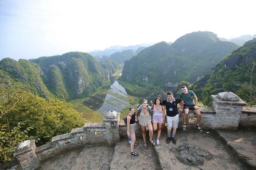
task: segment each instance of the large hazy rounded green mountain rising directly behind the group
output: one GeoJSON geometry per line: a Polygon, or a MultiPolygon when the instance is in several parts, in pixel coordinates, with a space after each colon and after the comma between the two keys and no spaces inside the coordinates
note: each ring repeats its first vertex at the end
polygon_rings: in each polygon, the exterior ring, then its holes
{"type": "Polygon", "coordinates": [[[158,87],[175,87],[182,80],[194,82],[237,48],[212,32],[188,33],[171,45],[159,42],[125,61],[121,80],[158,87]]]}

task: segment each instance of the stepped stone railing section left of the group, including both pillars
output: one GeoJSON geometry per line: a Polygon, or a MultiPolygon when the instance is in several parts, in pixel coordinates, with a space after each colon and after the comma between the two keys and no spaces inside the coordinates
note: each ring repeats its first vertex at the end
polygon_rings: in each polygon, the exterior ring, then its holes
{"type": "Polygon", "coordinates": [[[85,123],[84,127],[76,128],[69,134],[52,138],[50,143],[35,146],[35,140],[21,143],[14,156],[20,161],[23,169],[40,169],[40,162],[48,160],[69,149],[80,148],[91,144],[113,145],[120,141],[118,123],[120,113],[113,110],[107,112],[103,123],[85,123]]]}

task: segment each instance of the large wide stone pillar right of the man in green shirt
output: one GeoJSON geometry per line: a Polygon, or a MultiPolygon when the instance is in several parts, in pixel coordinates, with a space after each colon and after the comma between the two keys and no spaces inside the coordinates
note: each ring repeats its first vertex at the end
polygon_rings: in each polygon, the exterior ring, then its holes
{"type": "Polygon", "coordinates": [[[212,95],[212,98],[212,106],[216,112],[213,129],[236,130],[246,103],[232,92],[221,92],[218,95],[212,95]]]}

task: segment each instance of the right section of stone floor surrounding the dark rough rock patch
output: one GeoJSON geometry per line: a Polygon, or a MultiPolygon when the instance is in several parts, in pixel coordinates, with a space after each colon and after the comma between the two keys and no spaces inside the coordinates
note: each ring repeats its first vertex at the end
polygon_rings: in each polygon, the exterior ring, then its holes
{"type": "MultiPolygon", "coordinates": [[[[194,131],[190,129],[185,132],[177,131],[177,144],[175,145],[171,142],[166,144],[165,140],[166,134],[163,135],[160,146],[155,147],[160,161],[160,169],[256,169],[255,132],[197,132],[196,129],[194,131]],[[198,146],[209,152],[212,158],[198,155],[198,151],[194,150],[189,152],[194,157],[185,157],[185,161],[187,161],[185,164],[182,162],[184,160],[179,158],[180,153],[183,152],[180,151],[182,144],[198,146]],[[231,152],[231,150],[233,151],[231,152]],[[199,158],[201,156],[202,165],[193,166],[193,161],[199,161],[196,156],[199,158]]],[[[186,154],[182,156],[184,157],[186,154]]]]}

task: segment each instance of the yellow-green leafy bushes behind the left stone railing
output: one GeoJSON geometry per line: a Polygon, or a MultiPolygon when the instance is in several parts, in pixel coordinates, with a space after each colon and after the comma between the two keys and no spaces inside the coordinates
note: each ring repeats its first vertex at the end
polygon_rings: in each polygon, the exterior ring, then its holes
{"type": "Polygon", "coordinates": [[[12,160],[21,141],[35,139],[38,145],[44,144],[86,122],[64,101],[46,101],[26,90],[0,92],[0,163],[12,160]]]}

